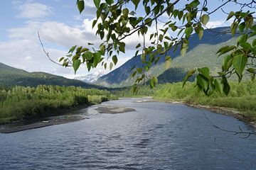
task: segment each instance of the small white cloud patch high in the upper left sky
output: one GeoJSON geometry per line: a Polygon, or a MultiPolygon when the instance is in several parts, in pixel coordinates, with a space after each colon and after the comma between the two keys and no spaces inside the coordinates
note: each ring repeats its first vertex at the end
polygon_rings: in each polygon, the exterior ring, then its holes
{"type": "Polygon", "coordinates": [[[52,8],[50,6],[46,6],[37,2],[27,1],[25,4],[15,2],[14,4],[18,5],[16,6],[19,12],[17,15],[18,18],[43,18],[52,13],[52,8]]]}

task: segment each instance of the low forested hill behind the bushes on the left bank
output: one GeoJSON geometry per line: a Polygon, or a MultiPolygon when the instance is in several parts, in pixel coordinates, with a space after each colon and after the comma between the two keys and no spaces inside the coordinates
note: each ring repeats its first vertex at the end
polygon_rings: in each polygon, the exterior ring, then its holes
{"type": "Polygon", "coordinates": [[[0,86],[38,86],[39,84],[81,86],[84,88],[100,87],[45,72],[26,72],[23,69],[16,69],[0,62],[0,86]]]}

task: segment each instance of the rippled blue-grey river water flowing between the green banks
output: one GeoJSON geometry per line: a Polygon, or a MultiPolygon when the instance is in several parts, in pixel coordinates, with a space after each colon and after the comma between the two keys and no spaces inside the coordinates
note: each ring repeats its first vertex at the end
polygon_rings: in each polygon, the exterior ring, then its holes
{"type": "MultiPolygon", "coordinates": [[[[102,105],[137,111],[0,134],[0,169],[256,169],[255,130],[239,120],[182,104],[124,98],[102,105]]],[[[102,106],[99,105],[99,106],[102,106]]]]}

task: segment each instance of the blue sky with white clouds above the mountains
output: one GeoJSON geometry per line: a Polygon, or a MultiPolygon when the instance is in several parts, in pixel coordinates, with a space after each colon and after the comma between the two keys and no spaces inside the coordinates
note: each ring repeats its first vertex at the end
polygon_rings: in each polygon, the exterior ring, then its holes
{"type": "MultiPolygon", "coordinates": [[[[184,0],[183,3],[185,2],[184,0]]],[[[220,2],[221,0],[210,0],[209,6],[214,8],[220,2]]],[[[224,10],[228,11],[230,8],[235,10],[236,7],[231,4],[224,10]]],[[[141,11],[139,7],[137,12],[141,11]]],[[[85,10],[82,14],[78,12],[76,0],[1,0],[0,62],[28,72],[48,72],[68,78],[89,74],[85,66],[75,75],[72,68],[64,68],[50,62],[43,53],[37,33],[41,35],[50,57],[58,61],[73,45],[87,45],[87,42],[100,44],[100,38],[95,35],[95,30],[92,30],[95,13],[96,8],[92,0],[85,0],[85,10]]],[[[215,28],[230,25],[225,22],[225,18],[221,11],[217,11],[210,16],[207,26],[215,28]]],[[[163,16],[161,19],[168,18],[163,16]]],[[[153,28],[149,29],[149,35],[152,31],[153,28]]],[[[134,47],[142,42],[142,38],[132,35],[125,42],[127,52],[119,56],[119,62],[114,69],[132,58],[134,47]]],[[[90,71],[93,72],[107,73],[110,70],[97,67],[90,71]]]]}

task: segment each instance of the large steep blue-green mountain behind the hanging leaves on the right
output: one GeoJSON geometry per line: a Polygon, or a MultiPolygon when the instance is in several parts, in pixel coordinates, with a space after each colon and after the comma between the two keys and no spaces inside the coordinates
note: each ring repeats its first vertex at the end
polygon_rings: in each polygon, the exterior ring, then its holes
{"type": "MultiPolygon", "coordinates": [[[[198,39],[198,35],[191,35],[188,52],[185,56],[180,55],[179,48],[175,52],[171,49],[167,52],[167,55],[171,56],[171,67],[164,67],[165,58],[161,57],[159,62],[151,67],[149,74],[159,77],[160,82],[174,82],[181,81],[183,75],[192,67],[210,66],[213,69],[218,69],[222,59],[218,58],[215,52],[222,45],[235,42],[235,38],[230,33],[225,33],[227,30],[230,30],[230,28],[223,27],[205,30],[201,40],[198,39]]],[[[130,86],[134,83],[134,79],[130,77],[131,69],[134,65],[143,67],[140,56],[132,57],[121,67],[100,77],[96,83],[112,87],[130,86]]]]}

